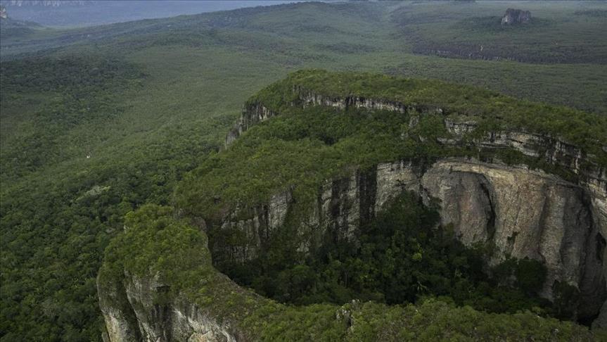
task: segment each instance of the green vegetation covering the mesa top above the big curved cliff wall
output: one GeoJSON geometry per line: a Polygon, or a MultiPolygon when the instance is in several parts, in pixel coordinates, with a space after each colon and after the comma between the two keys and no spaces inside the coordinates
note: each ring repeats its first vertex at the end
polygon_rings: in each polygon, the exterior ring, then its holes
{"type": "Polygon", "coordinates": [[[226,151],[208,158],[185,177],[176,201],[186,212],[217,218],[238,204],[265,203],[286,189],[295,189],[297,201],[305,202],[316,196],[325,179],[343,177],[352,167],[366,169],[395,160],[431,163],[447,156],[497,158],[577,177],[571,170],[547,163],[544,156],[530,158],[507,148],[496,151],[441,144],[440,138],[452,138],[445,129],[445,118],[476,122],[477,128],[464,141],[487,132],[546,134],[579,146],[589,160],[607,165],[607,153],[601,149],[607,145],[606,118],[457,84],[301,70],[248,100],[248,105],[255,103],[279,115],[253,126],[226,151]],[[400,103],[412,109],[399,113],[347,108],[344,112],[303,106],[300,96],[308,92],[327,99],[362,97],[400,103]],[[412,117],[419,118],[413,126],[409,125],[412,117]]]}

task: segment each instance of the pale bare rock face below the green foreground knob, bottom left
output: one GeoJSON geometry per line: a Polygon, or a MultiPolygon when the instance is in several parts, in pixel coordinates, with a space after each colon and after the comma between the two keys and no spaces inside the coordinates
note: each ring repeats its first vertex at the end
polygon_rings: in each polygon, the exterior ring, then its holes
{"type": "Polygon", "coordinates": [[[101,312],[108,341],[231,342],[229,325],[183,298],[165,300],[168,286],[156,277],[136,277],[125,272],[122,281],[98,279],[101,312]]]}

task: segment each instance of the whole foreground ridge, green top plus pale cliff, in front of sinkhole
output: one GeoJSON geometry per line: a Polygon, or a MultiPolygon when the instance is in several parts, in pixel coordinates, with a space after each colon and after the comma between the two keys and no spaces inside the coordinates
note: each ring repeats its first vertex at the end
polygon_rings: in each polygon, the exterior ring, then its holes
{"type": "Polygon", "coordinates": [[[437,300],[293,307],[240,288],[211,266],[203,232],[144,205],[129,214],[99,272],[104,341],[599,341],[532,312],[495,315],[437,300]],[[134,246],[134,244],[136,246],[134,246]],[[136,248],[134,248],[136,247],[136,248]],[[191,262],[193,261],[193,262],[191,262]],[[476,329],[469,329],[469,327],[476,329]],[[386,327],[389,327],[386,329],[386,327]]]}

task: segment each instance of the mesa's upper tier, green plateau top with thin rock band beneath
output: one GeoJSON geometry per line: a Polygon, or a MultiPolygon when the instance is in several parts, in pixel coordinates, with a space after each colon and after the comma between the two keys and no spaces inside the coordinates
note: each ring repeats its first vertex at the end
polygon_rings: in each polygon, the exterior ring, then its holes
{"type": "Polygon", "coordinates": [[[452,122],[466,118],[474,126],[476,122],[491,122],[494,133],[518,131],[554,137],[592,153],[588,156],[607,165],[607,120],[601,115],[518,100],[461,84],[324,70],[300,70],[262,89],[243,108],[226,141],[234,141],[251,125],[290,112],[290,108],[309,106],[390,110],[407,115],[440,113],[452,122]]]}

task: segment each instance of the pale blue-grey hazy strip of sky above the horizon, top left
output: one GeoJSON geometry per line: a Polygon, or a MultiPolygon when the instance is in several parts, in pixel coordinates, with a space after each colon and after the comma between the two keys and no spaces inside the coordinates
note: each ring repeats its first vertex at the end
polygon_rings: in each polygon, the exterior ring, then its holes
{"type": "MultiPolygon", "coordinates": [[[[120,23],[130,20],[172,17],[225,11],[235,8],[269,6],[298,0],[236,0],[236,1],[59,1],[60,6],[42,6],[37,2],[16,6],[2,0],[8,17],[46,26],[83,26],[120,23]],[[77,3],[84,4],[77,4],[77,3]],[[76,4],[75,4],[76,3],[76,4]]],[[[301,1],[301,0],[299,0],[301,1]]],[[[25,2],[25,1],[23,1],[25,2]]]]}

